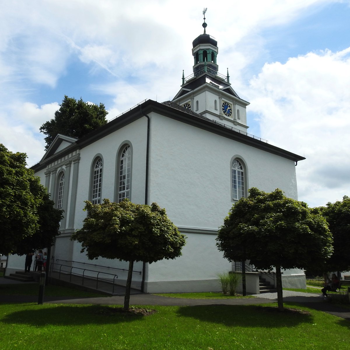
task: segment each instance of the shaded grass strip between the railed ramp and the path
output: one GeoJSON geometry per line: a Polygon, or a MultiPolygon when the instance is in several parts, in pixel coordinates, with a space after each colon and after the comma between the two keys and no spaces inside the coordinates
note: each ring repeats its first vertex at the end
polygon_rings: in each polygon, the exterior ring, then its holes
{"type": "MultiPolygon", "coordinates": [[[[38,283],[19,283],[0,285],[0,295],[38,295],[39,285],[38,283]]],[[[45,296],[73,296],[73,297],[97,297],[107,296],[104,294],[84,292],[83,290],[48,285],[44,289],[45,296]]],[[[0,298],[1,301],[1,298],[0,298]]]]}

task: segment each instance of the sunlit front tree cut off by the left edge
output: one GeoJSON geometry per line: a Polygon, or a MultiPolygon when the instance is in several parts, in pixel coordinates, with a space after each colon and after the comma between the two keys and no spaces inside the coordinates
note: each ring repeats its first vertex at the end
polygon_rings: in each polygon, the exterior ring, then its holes
{"type": "Polygon", "coordinates": [[[46,189],[26,168],[25,153],[12,153],[0,144],[0,252],[15,251],[19,241],[39,228],[38,208],[46,189]]]}

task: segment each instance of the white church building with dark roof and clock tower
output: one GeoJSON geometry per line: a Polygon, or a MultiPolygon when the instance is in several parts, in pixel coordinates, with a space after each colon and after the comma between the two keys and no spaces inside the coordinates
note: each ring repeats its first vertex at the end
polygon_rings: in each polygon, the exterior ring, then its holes
{"type": "MultiPolygon", "coordinates": [[[[232,89],[228,73],[218,73],[217,53],[216,40],[204,29],[193,41],[193,74],[183,77],[172,101],[146,100],[78,140],[57,135],[32,167],[64,210],[61,235],[51,248],[56,266],[87,262],[109,266],[100,268],[104,272],[127,269],[119,260],[89,261],[70,240],[86,216],[84,201],[157,202],[187,243],[175,260],[135,263],[133,287],[149,293],[217,291],[217,273],[233,268],[215,241],[232,204],[251,187],[280,188],[297,199],[295,166],[304,158],[247,133],[248,102],[232,89]]],[[[8,273],[23,269],[10,258],[8,273]]],[[[127,272],[117,274],[124,284],[127,272]]],[[[305,275],[288,270],[282,282],[303,288],[305,275]]]]}

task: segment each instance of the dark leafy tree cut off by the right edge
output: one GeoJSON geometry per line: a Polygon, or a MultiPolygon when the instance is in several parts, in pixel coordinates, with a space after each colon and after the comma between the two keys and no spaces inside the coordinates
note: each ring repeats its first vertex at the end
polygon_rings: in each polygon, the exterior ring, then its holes
{"type": "Polygon", "coordinates": [[[350,198],[319,208],[329,224],[334,252],[323,271],[350,271],[350,198]]]}

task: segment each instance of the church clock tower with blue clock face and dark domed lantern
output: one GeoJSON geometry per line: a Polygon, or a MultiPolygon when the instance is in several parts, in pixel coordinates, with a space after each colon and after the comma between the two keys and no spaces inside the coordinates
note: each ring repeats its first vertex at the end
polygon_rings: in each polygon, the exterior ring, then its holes
{"type": "MultiPolygon", "coordinates": [[[[205,12],[203,15],[205,16],[205,12]]],[[[203,23],[204,33],[193,41],[193,73],[186,77],[182,72],[181,90],[173,102],[201,114],[211,120],[247,131],[246,106],[248,102],[239,98],[232,89],[229,70],[222,75],[216,62],[217,41],[206,33],[207,23],[203,23]]]]}

